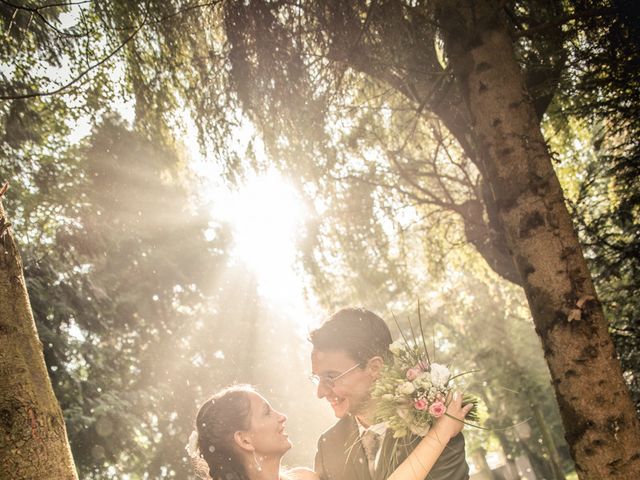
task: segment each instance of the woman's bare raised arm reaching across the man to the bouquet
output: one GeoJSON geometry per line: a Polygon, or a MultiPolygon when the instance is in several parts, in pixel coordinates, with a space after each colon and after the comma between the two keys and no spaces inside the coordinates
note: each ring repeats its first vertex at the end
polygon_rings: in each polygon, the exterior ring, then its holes
{"type": "Polygon", "coordinates": [[[447,443],[455,437],[464,424],[461,420],[473,405],[462,406],[462,395],[454,393],[447,407],[447,415],[438,419],[427,435],[418,443],[404,462],[396,468],[387,480],[423,480],[444,451],[447,443]],[[461,419],[461,420],[458,420],[461,419]]]}

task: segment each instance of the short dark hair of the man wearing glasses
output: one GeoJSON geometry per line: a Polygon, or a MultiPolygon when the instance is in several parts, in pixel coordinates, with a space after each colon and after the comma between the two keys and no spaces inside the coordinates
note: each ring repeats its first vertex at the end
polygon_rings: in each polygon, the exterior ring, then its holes
{"type": "Polygon", "coordinates": [[[364,308],[343,308],[309,334],[314,349],[344,351],[355,361],[366,363],[372,357],[389,356],[391,332],[375,313],[364,308]]]}

